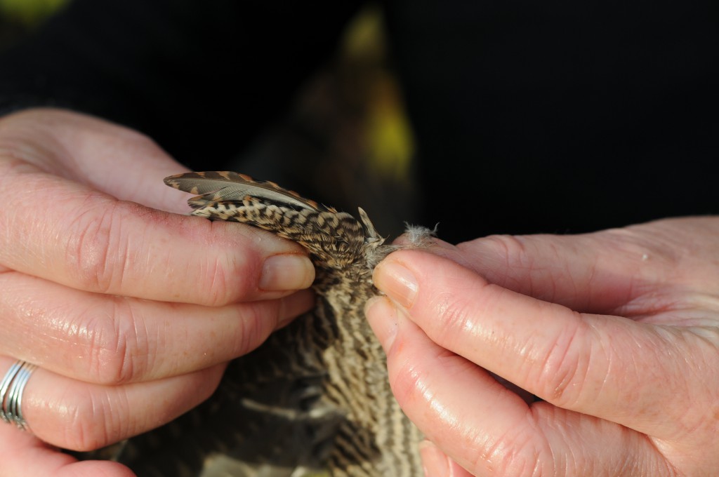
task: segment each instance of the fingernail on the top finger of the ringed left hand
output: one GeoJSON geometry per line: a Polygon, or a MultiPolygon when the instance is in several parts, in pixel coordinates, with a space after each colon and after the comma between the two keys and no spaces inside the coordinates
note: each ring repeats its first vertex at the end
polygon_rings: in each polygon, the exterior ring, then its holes
{"type": "Polygon", "coordinates": [[[273,255],[265,259],[260,289],[284,292],[308,288],[314,280],[314,267],[304,255],[273,255]]]}

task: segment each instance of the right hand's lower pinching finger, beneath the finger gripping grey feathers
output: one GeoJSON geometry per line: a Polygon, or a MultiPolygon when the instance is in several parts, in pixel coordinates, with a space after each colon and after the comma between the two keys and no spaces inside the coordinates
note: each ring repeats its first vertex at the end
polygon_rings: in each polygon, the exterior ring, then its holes
{"type": "Polygon", "coordinates": [[[470,473],[669,475],[646,436],[546,402],[528,406],[487,371],[431,341],[389,300],[375,299],[367,318],[387,352],[400,406],[470,473]]]}

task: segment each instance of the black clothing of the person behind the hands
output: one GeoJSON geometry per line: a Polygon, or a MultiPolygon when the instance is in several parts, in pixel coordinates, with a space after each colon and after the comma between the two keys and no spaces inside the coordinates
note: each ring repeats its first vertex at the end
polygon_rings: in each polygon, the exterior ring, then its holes
{"type": "MultiPolygon", "coordinates": [[[[76,0],[0,59],[0,103],[99,114],[211,169],[198,159],[273,119],[359,3],[76,0]]],[[[442,238],[719,212],[715,1],[383,6],[442,238]]]]}

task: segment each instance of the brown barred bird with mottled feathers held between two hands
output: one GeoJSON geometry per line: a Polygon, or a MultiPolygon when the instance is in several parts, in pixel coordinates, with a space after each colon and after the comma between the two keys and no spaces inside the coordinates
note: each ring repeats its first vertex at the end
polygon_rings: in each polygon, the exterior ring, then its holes
{"type": "MultiPolygon", "coordinates": [[[[372,269],[385,244],[359,220],[270,181],[186,172],[165,184],[195,196],[194,216],[265,229],[303,246],[316,268],[316,306],[230,363],[216,392],[114,460],[138,476],[422,476],[421,432],[390,389],[386,356],[364,316],[379,294],[372,269]]],[[[411,228],[413,246],[432,231],[411,228]]]]}

